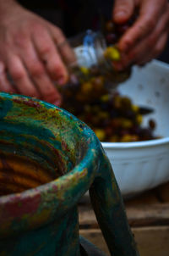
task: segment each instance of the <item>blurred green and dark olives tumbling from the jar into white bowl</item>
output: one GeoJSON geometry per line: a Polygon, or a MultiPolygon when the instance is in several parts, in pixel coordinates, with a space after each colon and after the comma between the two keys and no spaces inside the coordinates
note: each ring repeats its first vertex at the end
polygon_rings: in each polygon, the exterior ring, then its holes
{"type": "MultiPolygon", "coordinates": [[[[125,25],[114,25],[112,21],[105,23],[106,58],[119,60],[120,54],[116,43],[134,19],[125,25]]],[[[128,76],[128,72],[113,71],[113,81],[123,81],[125,75],[128,76]]],[[[140,114],[139,106],[117,91],[110,93],[111,79],[107,78],[101,68],[75,67],[68,85],[60,89],[63,95],[61,107],[89,125],[101,142],[138,142],[155,139],[155,121],[150,120],[148,127],[143,128],[143,116],[140,114]]]]}

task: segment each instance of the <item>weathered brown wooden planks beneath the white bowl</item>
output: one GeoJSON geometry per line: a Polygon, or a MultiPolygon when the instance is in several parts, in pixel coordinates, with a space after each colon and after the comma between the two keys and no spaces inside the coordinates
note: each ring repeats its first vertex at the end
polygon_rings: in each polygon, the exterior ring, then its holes
{"type": "MultiPolygon", "coordinates": [[[[169,182],[124,203],[140,256],[169,256],[169,182]]],[[[82,236],[110,255],[89,201],[79,205],[79,227],[82,236]]]]}

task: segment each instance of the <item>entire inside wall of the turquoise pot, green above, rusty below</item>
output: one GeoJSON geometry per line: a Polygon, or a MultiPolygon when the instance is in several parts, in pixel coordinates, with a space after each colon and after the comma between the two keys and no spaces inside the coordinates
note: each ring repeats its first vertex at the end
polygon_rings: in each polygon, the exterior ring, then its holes
{"type": "Polygon", "coordinates": [[[0,97],[0,196],[65,175],[85,155],[83,127],[30,98],[0,97]]]}

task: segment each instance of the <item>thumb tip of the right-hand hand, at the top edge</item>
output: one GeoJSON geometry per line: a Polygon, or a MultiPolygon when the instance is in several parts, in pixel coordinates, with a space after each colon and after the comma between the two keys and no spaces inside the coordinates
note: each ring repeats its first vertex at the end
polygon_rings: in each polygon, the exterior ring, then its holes
{"type": "Polygon", "coordinates": [[[115,0],[112,10],[112,19],[114,22],[121,24],[128,21],[134,13],[134,3],[134,0],[115,0]]]}

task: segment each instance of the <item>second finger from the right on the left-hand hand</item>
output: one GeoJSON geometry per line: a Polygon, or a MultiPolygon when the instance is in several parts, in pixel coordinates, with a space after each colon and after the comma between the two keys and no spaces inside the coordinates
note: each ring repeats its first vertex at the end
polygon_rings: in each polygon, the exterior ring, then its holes
{"type": "Polygon", "coordinates": [[[52,41],[52,36],[48,31],[41,29],[35,30],[33,34],[35,50],[43,61],[48,75],[58,84],[63,85],[68,79],[68,72],[63,64],[63,60],[52,41]]]}

